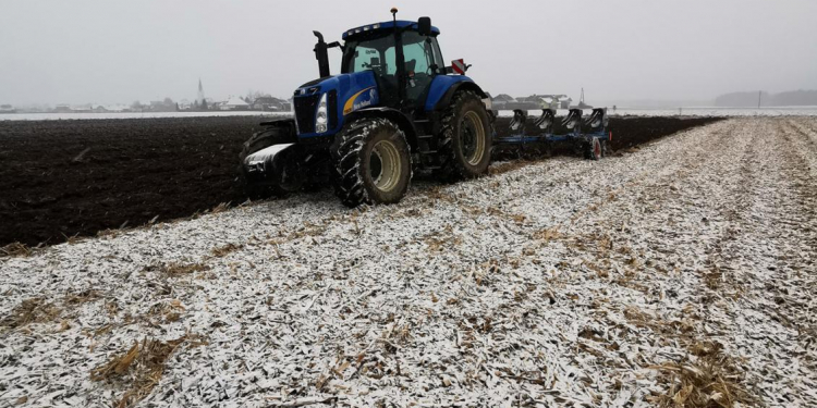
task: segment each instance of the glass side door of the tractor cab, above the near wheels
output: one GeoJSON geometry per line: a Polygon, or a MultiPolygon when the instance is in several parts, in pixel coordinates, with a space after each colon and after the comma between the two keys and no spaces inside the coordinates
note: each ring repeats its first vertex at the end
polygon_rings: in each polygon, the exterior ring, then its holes
{"type": "Polygon", "coordinates": [[[437,38],[422,36],[417,32],[403,33],[403,58],[405,60],[405,109],[422,111],[435,75],[441,72],[442,54],[437,38]]]}

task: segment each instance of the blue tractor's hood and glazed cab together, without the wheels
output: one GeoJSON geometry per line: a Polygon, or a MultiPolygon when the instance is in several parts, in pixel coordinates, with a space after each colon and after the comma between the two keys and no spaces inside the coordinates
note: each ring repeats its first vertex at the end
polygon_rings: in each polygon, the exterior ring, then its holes
{"type": "MultiPolygon", "coordinates": [[[[392,10],[397,13],[397,10],[392,10]]],[[[440,29],[429,17],[416,22],[397,20],[351,28],[343,33],[343,42],[327,44],[318,38],[315,57],[320,78],[295,90],[293,108],[297,136],[330,143],[350,120],[361,114],[373,114],[379,109],[393,120],[402,121],[408,139],[415,135],[440,132],[435,128],[435,111],[443,109],[460,87],[487,94],[465,76],[467,67],[461,61],[446,66],[437,40],[440,29]],[[328,50],[342,51],[341,72],[329,70],[328,50]],[[460,71],[454,65],[460,64],[460,71]],[[459,75],[452,75],[452,74],[459,75]],[[399,112],[399,114],[397,114],[399,112]]]]}

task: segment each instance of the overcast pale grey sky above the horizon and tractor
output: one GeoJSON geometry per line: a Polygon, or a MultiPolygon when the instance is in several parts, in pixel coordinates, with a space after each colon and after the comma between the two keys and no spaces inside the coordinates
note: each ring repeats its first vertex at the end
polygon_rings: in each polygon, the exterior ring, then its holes
{"type": "Polygon", "coordinates": [[[814,0],[2,0],[0,103],[195,99],[199,77],[216,99],[289,97],[317,77],[313,29],[340,39],[392,5],[430,16],[443,57],[495,95],[817,89],[814,0]]]}

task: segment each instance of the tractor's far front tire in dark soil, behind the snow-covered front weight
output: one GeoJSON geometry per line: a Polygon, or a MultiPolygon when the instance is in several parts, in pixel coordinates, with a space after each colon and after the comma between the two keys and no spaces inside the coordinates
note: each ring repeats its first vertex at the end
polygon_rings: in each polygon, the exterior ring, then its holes
{"type": "MultiPolygon", "coordinates": [[[[300,190],[304,185],[304,178],[297,165],[296,158],[288,160],[286,169],[278,169],[275,180],[260,183],[247,177],[244,169],[244,161],[247,156],[264,150],[272,145],[295,143],[296,136],[286,126],[275,126],[256,132],[249,140],[244,143],[244,147],[239,154],[239,178],[241,181],[244,194],[251,199],[263,199],[269,197],[283,197],[288,194],[300,190]]],[[[283,162],[283,161],[281,161],[283,162]]]]}

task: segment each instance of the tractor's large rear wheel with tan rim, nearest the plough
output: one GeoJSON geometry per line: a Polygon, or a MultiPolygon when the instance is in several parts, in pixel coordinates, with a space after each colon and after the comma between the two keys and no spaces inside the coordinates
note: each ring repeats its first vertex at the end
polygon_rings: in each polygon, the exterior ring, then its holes
{"type": "Polygon", "coordinates": [[[439,154],[444,178],[474,178],[488,170],[491,160],[491,122],[481,98],[465,90],[454,95],[442,118],[439,154]]]}

